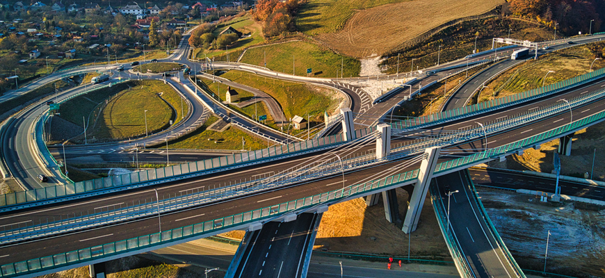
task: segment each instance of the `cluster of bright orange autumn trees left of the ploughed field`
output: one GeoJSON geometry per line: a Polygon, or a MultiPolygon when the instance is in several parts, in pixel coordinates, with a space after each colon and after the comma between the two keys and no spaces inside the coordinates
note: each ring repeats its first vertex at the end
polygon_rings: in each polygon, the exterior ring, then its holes
{"type": "Polygon", "coordinates": [[[286,32],[295,31],[293,17],[300,6],[300,0],[259,0],[252,18],[263,22],[263,35],[275,37],[286,32]]]}

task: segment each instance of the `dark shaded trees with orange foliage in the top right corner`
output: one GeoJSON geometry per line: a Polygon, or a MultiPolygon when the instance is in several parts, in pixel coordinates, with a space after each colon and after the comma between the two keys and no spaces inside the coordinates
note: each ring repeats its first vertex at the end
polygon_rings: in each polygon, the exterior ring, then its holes
{"type": "Polygon", "coordinates": [[[510,12],[537,19],[567,35],[599,30],[605,16],[605,1],[600,0],[510,0],[510,12]]]}

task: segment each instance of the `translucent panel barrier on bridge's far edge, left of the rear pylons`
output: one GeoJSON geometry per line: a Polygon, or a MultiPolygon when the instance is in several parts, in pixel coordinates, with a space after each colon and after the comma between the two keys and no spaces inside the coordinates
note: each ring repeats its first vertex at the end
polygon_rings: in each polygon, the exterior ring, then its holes
{"type": "MultiPolygon", "coordinates": [[[[372,129],[375,128],[370,127],[368,129],[363,129],[356,132],[358,134],[369,133],[372,131],[372,129]]],[[[38,201],[45,199],[70,197],[70,195],[81,195],[85,193],[95,195],[103,193],[104,190],[115,191],[116,187],[121,187],[120,189],[126,190],[136,188],[138,186],[164,183],[166,181],[172,181],[184,177],[197,177],[204,173],[218,172],[219,170],[232,169],[235,167],[241,167],[243,165],[252,165],[255,163],[295,156],[307,152],[316,152],[320,149],[342,145],[344,142],[346,141],[342,138],[342,135],[337,134],[323,138],[312,138],[311,140],[302,142],[294,142],[289,145],[278,145],[267,149],[232,154],[230,156],[209,158],[204,161],[170,165],[168,167],[132,172],[129,174],[120,174],[112,177],[79,181],[76,183],[67,183],[60,186],[50,186],[47,188],[8,193],[5,195],[0,195],[0,207],[14,206],[17,204],[34,206],[36,204],[42,204],[38,201]],[[30,202],[36,203],[25,204],[30,202]]],[[[43,204],[47,203],[48,202],[43,202],[43,204]]],[[[0,211],[1,210],[2,208],[0,208],[0,211]]]]}

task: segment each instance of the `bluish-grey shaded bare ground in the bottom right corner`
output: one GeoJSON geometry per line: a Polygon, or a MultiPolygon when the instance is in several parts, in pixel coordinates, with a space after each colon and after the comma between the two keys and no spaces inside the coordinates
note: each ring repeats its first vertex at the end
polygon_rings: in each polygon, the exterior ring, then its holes
{"type": "Polygon", "coordinates": [[[547,272],[604,277],[605,210],[576,208],[573,202],[542,203],[531,195],[478,188],[504,243],[524,269],[542,271],[550,232],[547,272]]]}

